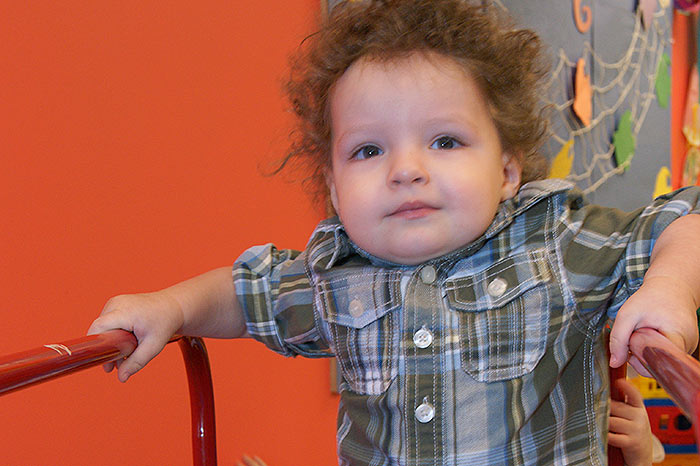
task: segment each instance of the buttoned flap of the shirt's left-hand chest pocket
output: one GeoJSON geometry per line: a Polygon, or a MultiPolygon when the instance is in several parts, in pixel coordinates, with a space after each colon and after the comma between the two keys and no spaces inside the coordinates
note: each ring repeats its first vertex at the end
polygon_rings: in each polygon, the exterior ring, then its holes
{"type": "Polygon", "coordinates": [[[362,268],[320,280],[316,289],[329,323],[359,329],[401,305],[401,272],[362,268]]]}

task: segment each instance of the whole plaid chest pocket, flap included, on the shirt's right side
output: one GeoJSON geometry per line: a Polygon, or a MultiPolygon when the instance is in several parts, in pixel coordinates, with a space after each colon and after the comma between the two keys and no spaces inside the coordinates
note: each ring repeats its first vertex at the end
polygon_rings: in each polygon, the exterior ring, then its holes
{"type": "Polygon", "coordinates": [[[445,283],[467,373],[497,382],[532,372],[547,346],[551,282],[546,253],[535,250],[445,283]]]}

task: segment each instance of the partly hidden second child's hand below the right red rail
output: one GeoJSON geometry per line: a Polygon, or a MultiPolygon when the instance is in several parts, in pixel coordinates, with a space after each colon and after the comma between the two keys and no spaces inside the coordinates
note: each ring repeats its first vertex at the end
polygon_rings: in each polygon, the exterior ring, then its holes
{"type": "Polygon", "coordinates": [[[652,437],[649,417],[642,394],[624,379],[616,381],[627,402],[610,402],[608,443],[622,450],[627,466],[649,466],[652,460],[652,437]]]}

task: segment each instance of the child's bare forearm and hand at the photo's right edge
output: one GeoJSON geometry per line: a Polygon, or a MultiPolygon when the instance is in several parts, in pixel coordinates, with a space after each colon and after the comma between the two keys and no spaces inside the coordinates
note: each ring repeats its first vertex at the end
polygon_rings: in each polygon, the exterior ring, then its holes
{"type": "MultiPolygon", "coordinates": [[[[672,222],[659,236],[642,286],[620,308],[610,334],[610,365],[627,360],[629,339],[638,328],[658,330],[685,351],[698,342],[700,304],[700,215],[672,222]]],[[[639,363],[635,369],[647,374],[639,363]]]]}

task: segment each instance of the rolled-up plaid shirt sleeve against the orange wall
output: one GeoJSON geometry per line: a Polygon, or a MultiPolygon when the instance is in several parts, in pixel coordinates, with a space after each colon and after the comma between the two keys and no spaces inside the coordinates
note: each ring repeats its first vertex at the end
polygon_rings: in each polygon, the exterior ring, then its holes
{"type": "Polygon", "coordinates": [[[333,356],[318,330],[304,252],[272,244],[245,251],[233,282],[248,333],[284,356],[333,356]]]}

